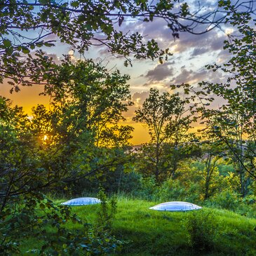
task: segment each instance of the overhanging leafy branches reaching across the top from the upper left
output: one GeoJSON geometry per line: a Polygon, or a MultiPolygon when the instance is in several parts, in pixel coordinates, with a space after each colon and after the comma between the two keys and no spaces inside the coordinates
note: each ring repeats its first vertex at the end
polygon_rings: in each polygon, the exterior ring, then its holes
{"type": "MultiPolygon", "coordinates": [[[[253,1],[249,2],[239,1],[234,8],[243,6],[250,12],[253,1]]],[[[105,46],[109,52],[123,55],[126,65],[130,55],[162,62],[169,50],[160,49],[154,39],[144,42],[139,32],[123,32],[123,22],[128,18],[142,22],[163,19],[175,38],[180,32],[208,32],[224,22],[228,13],[219,7],[206,12],[200,5],[191,11],[187,2],[178,0],[6,0],[0,9],[0,82],[8,79],[17,91],[20,85],[44,83],[54,61],[41,48],[54,47],[58,41],[81,54],[90,46],[105,46]]]]}

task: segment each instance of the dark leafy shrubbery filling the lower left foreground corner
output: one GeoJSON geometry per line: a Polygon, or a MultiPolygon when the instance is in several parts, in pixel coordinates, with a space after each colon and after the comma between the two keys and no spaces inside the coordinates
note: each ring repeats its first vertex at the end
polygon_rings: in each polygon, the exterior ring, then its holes
{"type": "Polygon", "coordinates": [[[42,194],[27,194],[19,199],[23,199],[22,204],[17,203],[8,213],[1,212],[1,255],[19,254],[31,236],[38,243],[29,252],[39,255],[107,255],[121,246],[121,241],[107,230],[100,232],[79,219],[68,206],[57,206],[42,194]],[[70,230],[69,222],[76,228],[70,230]]]}

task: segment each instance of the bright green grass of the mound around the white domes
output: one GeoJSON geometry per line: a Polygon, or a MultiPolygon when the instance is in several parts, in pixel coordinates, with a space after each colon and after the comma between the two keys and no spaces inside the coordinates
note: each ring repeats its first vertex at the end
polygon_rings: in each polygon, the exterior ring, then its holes
{"type": "MultiPolygon", "coordinates": [[[[61,201],[56,201],[60,203],[61,201]]],[[[184,222],[190,213],[170,213],[149,210],[156,202],[119,198],[117,213],[113,223],[116,238],[127,241],[123,256],[157,256],[157,255],[256,255],[256,220],[237,215],[228,210],[213,212],[219,223],[219,232],[215,247],[210,252],[192,249],[188,242],[188,233],[184,222]]],[[[72,208],[83,220],[95,223],[99,205],[72,208]]],[[[201,210],[198,210],[200,214],[201,210]]],[[[68,224],[72,229],[72,224],[68,224]]],[[[23,251],[28,250],[35,240],[27,241],[23,251]]],[[[22,255],[29,255],[23,253],[22,255]]]]}

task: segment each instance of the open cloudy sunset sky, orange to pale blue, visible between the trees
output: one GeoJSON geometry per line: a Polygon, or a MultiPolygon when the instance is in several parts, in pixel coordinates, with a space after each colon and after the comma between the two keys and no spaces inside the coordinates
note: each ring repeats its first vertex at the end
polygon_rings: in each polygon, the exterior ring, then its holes
{"type": "MultiPolygon", "coordinates": [[[[206,11],[213,8],[213,1],[205,1],[206,11]]],[[[227,40],[227,34],[232,32],[231,27],[222,27],[212,31],[193,35],[181,33],[180,39],[173,39],[172,32],[168,29],[163,20],[154,20],[154,22],[128,21],[123,23],[123,31],[138,31],[145,36],[145,39],[154,38],[160,43],[161,48],[170,48],[173,56],[163,65],[151,60],[133,60],[133,67],[125,67],[124,59],[110,55],[106,48],[93,47],[85,54],[86,58],[93,58],[95,62],[102,62],[110,72],[114,69],[121,70],[122,74],[130,75],[130,93],[135,105],[130,107],[127,113],[124,113],[126,123],[135,127],[133,133],[133,144],[141,144],[149,140],[147,129],[140,123],[132,121],[135,109],[142,105],[142,102],[149,95],[149,88],[158,88],[161,92],[168,91],[170,84],[191,83],[194,86],[199,81],[220,81],[224,79],[218,72],[210,72],[205,65],[210,63],[222,63],[227,60],[228,53],[223,50],[223,41],[227,40]]],[[[55,60],[60,60],[63,54],[73,54],[74,58],[80,56],[73,52],[70,46],[63,43],[56,43],[53,48],[44,49],[55,60]]],[[[49,98],[39,96],[43,90],[41,86],[21,88],[19,93],[9,93],[10,86],[0,85],[0,95],[4,95],[11,100],[13,104],[24,107],[25,112],[37,104],[49,105],[49,98]]],[[[221,103],[216,103],[221,104],[221,103]]]]}

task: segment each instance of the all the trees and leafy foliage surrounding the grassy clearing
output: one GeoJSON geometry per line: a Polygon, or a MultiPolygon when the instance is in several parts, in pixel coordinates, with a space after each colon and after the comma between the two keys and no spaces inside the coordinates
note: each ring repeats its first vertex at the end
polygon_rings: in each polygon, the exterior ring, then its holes
{"type": "MultiPolygon", "coordinates": [[[[109,16],[117,18],[119,27],[128,13],[143,16],[144,22],[168,17],[173,37],[182,31],[193,32],[179,20],[194,16],[186,3],[176,16],[170,12],[174,8],[170,1],[159,1],[153,9],[147,4],[73,1],[68,6],[42,0],[34,4],[4,1],[1,5],[0,81],[8,79],[12,92],[20,86],[44,84],[44,93],[51,97],[50,109],[37,105],[32,116],[0,97],[1,254],[18,254],[22,239],[32,234],[44,241],[40,255],[108,254],[121,241],[112,236],[116,203],[112,201],[109,213],[105,194],[189,201],[255,217],[256,32],[249,9],[238,12],[230,1],[219,1],[219,8],[227,15],[211,24],[229,22],[240,36],[224,41],[230,60],[206,69],[223,72],[227,81],[202,81],[196,87],[170,85],[173,93],[151,88],[134,117],[147,126],[151,137],[139,149],[128,142],[133,128],[119,125],[125,120],[123,113],[133,105],[128,75],[118,70],[108,72],[93,60],[74,62],[69,55],[57,64],[39,49],[54,47],[53,42],[44,41],[45,35],[18,44],[6,36],[19,36],[15,30],[19,28],[24,39],[24,31],[43,27],[83,52],[92,40],[103,40],[93,37],[100,29],[107,36],[103,43],[113,53],[124,55],[126,65],[131,63],[130,54],[163,62],[168,50],[159,49],[154,40],[142,43],[140,34],[117,32],[109,16]],[[114,13],[109,15],[109,10],[114,13]],[[93,11],[97,13],[94,18],[93,11]],[[72,16],[72,12],[79,14],[72,16]],[[216,97],[225,102],[219,109],[211,107],[216,97]],[[191,133],[196,122],[204,128],[191,133]],[[70,208],[48,197],[70,198],[99,191],[105,204],[97,227],[90,227],[70,208]],[[83,229],[70,230],[65,226],[69,221],[83,229]],[[55,230],[51,236],[49,227],[55,230]]],[[[209,23],[208,18],[202,19],[209,23]]],[[[199,26],[203,21],[194,22],[199,26]]]]}

